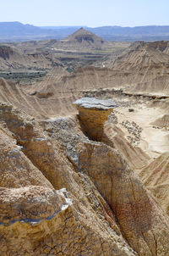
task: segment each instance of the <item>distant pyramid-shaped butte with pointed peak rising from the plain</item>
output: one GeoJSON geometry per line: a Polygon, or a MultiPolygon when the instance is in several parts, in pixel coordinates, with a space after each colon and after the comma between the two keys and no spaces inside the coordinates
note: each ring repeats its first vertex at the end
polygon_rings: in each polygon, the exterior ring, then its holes
{"type": "Polygon", "coordinates": [[[63,43],[73,43],[75,45],[82,46],[94,46],[101,47],[106,44],[101,37],[96,36],[90,31],[86,31],[84,28],[80,28],[78,31],[75,31],[72,35],[66,37],[62,40],[63,43]]]}

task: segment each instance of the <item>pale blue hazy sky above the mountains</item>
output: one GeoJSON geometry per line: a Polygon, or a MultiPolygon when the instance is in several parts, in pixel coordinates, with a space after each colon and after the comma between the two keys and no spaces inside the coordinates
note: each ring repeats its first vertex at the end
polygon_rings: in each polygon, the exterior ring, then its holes
{"type": "Polygon", "coordinates": [[[0,21],[31,25],[169,25],[169,0],[0,0],[0,21]]]}

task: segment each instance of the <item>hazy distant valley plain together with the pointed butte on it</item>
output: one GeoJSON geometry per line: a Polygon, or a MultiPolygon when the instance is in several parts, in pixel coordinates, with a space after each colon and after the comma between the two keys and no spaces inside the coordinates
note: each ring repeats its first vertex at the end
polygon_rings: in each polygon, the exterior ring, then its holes
{"type": "Polygon", "coordinates": [[[128,42],[106,42],[80,29],[62,41],[45,40],[0,44],[0,76],[19,84],[41,80],[55,67],[72,72],[122,52],[128,42]]]}

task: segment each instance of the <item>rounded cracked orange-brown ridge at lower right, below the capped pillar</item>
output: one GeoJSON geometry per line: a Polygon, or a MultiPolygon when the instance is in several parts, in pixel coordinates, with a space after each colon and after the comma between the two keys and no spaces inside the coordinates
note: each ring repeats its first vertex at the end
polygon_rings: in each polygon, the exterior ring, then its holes
{"type": "Polygon", "coordinates": [[[139,255],[168,253],[168,218],[116,150],[98,142],[85,143],[79,150],[79,170],[95,183],[139,255]]]}

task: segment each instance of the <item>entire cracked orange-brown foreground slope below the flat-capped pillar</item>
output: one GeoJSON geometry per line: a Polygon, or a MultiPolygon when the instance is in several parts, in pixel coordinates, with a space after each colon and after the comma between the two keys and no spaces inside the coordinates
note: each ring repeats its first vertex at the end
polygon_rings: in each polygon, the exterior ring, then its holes
{"type": "Polygon", "coordinates": [[[91,142],[75,118],[40,126],[1,104],[0,120],[3,158],[20,150],[0,190],[2,255],[167,255],[167,216],[117,150],[91,142]]]}

